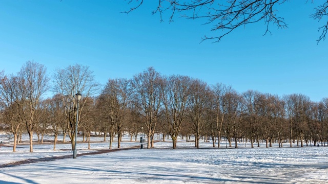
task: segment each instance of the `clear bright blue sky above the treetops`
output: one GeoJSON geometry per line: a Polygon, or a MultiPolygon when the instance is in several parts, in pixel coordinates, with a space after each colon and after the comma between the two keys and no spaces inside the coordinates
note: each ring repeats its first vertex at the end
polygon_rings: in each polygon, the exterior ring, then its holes
{"type": "MultiPolygon", "coordinates": [[[[180,74],[208,84],[231,85],[279,96],[300,93],[312,101],[328,97],[328,40],[316,40],[324,21],[310,18],[314,4],[290,1],[278,7],[288,29],[264,22],[239,28],[219,43],[203,20],[179,18],[169,24],[151,15],[156,1],[129,14],[128,1],[0,0],[0,71],[16,73],[28,61],[42,63],[49,75],[79,63],[95,78],[132,78],[153,66],[163,75],[180,74]]],[[[328,35],[327,35],[328,36],[328,35]]]]}

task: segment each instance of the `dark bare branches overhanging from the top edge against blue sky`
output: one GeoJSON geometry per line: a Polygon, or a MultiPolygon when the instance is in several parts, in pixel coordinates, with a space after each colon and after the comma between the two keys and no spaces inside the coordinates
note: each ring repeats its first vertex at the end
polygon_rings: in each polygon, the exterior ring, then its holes
{"type": "MultiPolygon", "coordinates": [[[[140,7],[144,0],[128,1],[132,6],[125,13],[130,13],[140,7]]],[[[216,36],[203,36],[202,40],[214,39],[219,42],[221,38],[228,35],[239,27],[245,27],[249,24],[262,21],[266,27],[264,35],[270,33],[269,26],[275,25],[278,28],[287,28],[283,17],[280,17],[278,6],[285,3],[286,0],[191,0],[191,1],[158,1],[158,6],[154,7],[152,14],[158,13],[160,21],[163,21],[162,15],[168,12],[169,22],[173,21],[174,16],[178,13],[180,17],[187,19],[202,19],[204,25],[211,25],[211,31],[216,31],[216,36]]],[[[313,2],[313,0],[312,0],[313,2]]],[[[327,17],[328,2],[315,9],[311,15],[312,18],[320,21],[323,17],[327,17]]],[[[322,34],[317,42],[325,39],[327,33],[328,21],[319,28],[322,34]]]]}

